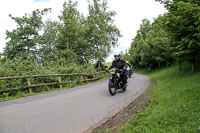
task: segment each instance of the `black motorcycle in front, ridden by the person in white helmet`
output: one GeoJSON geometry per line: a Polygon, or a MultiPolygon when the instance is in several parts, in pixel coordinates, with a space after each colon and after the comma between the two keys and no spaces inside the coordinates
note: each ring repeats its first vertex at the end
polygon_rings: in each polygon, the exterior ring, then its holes
{"type": "Polygon", "coordinates": [[[111,69],[109,71],[109,81],[108,81],[108,90],[111,94],[111,96],[114,96],[118,90],[121,90],[121,92],[126,91],[127,85],[125,85],[122,80],[120,79],[120,72],[122,72],[122,69],[111,69]]]}

